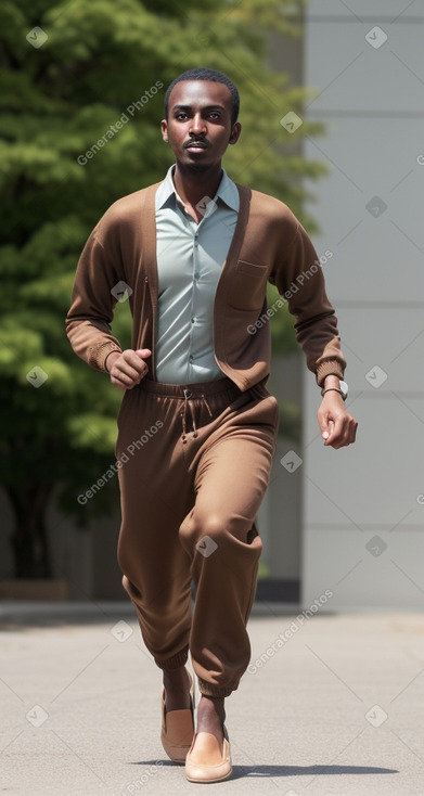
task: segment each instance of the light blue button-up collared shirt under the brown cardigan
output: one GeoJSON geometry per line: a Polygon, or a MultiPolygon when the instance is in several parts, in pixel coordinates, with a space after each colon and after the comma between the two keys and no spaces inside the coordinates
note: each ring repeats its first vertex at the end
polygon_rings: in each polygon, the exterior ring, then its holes
{"type": "Polygon", "coordinates": [[[193,384],[226,374],[214,356],[214,300],[233,239],[240,196],[224,169],[216,195],[200,203],[200,223],[177,194],[171,166],[156,191],[158,321],[156,378],[193,384]]]}

